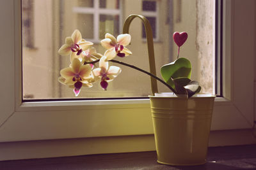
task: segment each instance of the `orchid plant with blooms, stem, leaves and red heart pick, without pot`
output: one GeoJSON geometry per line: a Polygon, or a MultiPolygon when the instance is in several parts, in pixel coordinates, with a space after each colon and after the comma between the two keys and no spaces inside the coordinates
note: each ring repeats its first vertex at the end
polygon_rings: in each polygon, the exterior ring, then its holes
{"type": "MultiPolygon", "coordinates": [[[[186,32],[174,32],[173,34],[173,39],[179,49],[187,38],[188,34],[186,32]]],[[[115,57],[125,57],[132,54],[126,48],[130,42],[130,34],[120,34],[115,38],[113,35],[106,33],[105,39],[100,41],[101,45],[106,48],[106,52],[102,55],[96,52],[92,42],[83,39],[81,33],[75,30],[72,36],[65,39],[65,44],[58,51],[60,55],[69,55],[71,62],[69,67],[60,71],[59,81],[72,88],[76,96],[79,95],[82,87],[92,87],[93,83],[97,81],[100,82],[103,90],[107,90],[108,82],[112,81],[122,71],[120,67],[109,66],[109,62],[117,62],[156,78],[177,96],[191,97],[200,92],[201,87],[198,82],[189,79],[191,77],[191,63],[186,58],[179,58],[179,52],[177,60],[161,67],[161,75],[164,81],[136,66],[114,60],[115,57]],[[99,67],[95,66],[97,62],[99,62],[99,67]]]]}

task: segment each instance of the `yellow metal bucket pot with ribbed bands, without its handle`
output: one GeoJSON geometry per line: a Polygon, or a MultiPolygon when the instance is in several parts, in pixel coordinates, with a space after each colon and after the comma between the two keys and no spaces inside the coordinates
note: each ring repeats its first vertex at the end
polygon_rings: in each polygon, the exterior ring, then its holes
{"type": "Polygon", "coordinates": [[[149,97],[157,162],[174,166],[204,164],[215,96],[149,97]]]}

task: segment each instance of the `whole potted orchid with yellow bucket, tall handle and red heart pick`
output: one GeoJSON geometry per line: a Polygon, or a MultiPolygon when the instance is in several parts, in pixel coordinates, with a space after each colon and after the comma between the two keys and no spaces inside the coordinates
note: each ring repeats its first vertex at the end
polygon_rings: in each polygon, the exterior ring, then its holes
{"type": "Polygon", "coordinates": [[[198,94],[201,87],[191,78],[191,63],[188,59],[179,57],[180,46],[188,38],[186,32],[174,32],[173,40],[179,47],[177,59],[161,67],[161,78],[156,76],[154,69],[154,46],[152,31],[147,18],[142,15],[130,15],[124,24],[124,34],[115,38],[106,33],[100,44],[106,48],[104,54],[97,53],[93,43],[82,38],[75,30],[65,39],[58,53],[70,57],[70,65],[61,69],[60,83],[72,88],[76,96],[82,87],[92,87],[93,83],[100,83],[103,90],[108,89],[109,81],[114,80],[121,73],[118,66],[109,66],[109,62],[131,67],[151,76],[152,96],[150,106],[156,140],[157,162],[169,165],[197,165],[204,164],[207,155],[209,131],[211,127],[214,97],[198,94]],[[128,34],[131,21],[139,17],[143,20],[147,34],[148,55],[150,58],[150,72],[115,60],[116,57],[126,57],[132,52],[127,48],[131,43],[128,34]],[[157,94],[156,81],[161,81],[175,94],[166,96],[157,94]]]}

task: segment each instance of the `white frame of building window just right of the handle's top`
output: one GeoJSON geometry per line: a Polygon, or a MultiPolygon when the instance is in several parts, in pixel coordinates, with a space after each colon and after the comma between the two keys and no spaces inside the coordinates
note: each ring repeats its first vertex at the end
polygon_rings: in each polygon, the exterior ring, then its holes
{"type": "MultiPolygon", "coordinates": [[[[155,0],[154,0],[155,1],[155,0]]],[[[156,38],[153,38],[154,41],[159,41],[159,1],[156,2],[156,11],[143,11],[141,13],[145,17],[155,17],[156,18],[156,38]]],[[[143,3],[143,1],[141,1],[143,3]]],[[[143,38],[143,41],[146,41],[146,38],[143,38]]]]}

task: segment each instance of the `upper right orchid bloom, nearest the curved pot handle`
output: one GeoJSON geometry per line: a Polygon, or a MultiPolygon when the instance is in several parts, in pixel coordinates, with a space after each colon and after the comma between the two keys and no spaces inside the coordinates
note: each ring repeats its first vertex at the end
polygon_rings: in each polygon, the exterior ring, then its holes
{"type": "Polygon", "coordinates": [[[113,35],[106,33],[105,39],[100,41],[101,45],[108,49],[106,51],[107,59],[112,60],[116,57],[125,57],[127,55],[131,55],[132,52],[128,50],[125,46],[129,45],[131,42],[130,34],[120,34],[115,38],[113,35]]]}

